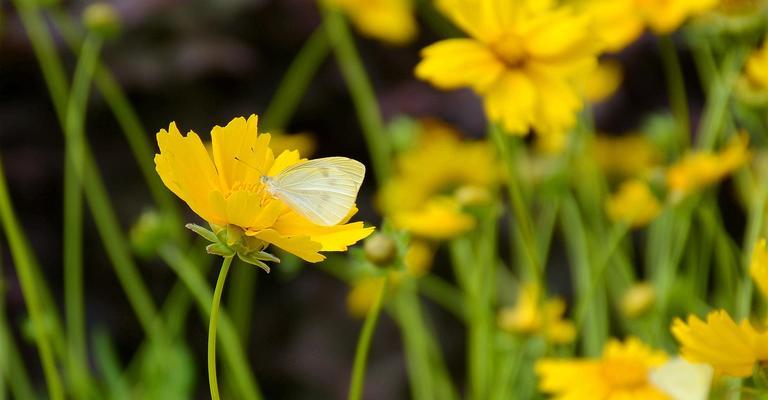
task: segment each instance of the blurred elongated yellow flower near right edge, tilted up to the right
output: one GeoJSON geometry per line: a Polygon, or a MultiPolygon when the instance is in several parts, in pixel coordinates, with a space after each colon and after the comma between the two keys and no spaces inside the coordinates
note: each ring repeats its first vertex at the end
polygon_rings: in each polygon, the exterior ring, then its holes
{"type": "Polygon", "coordinates": [[[667,185],[676,195],[685,195],[711,185],[747,163],[749,136],[735,136],[719,153],[692,152],[667,170],[667,185]]]}

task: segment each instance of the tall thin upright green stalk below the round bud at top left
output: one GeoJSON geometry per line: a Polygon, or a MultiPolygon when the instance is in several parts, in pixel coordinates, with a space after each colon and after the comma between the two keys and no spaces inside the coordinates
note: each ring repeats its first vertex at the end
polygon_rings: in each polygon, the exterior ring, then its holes
{"type": "Polygon", "coordinates": [[[83,199],[82,176],[85,114],[93,72],[101,39],[89,36],[75,69],[64,136],[64,305],[67,317],[67,365],[78,397],[86,396],[90,385],[85,339],[85,302],[83,300],[83,199]]]}

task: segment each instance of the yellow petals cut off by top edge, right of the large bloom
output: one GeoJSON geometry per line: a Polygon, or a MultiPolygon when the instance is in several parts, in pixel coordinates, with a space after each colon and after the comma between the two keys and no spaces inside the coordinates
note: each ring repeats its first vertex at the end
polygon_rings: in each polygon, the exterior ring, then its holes
{"type": "Polygon", "coordinates": [[[718,0],[585,0],[585,12],[606,51],[616,52],[650,27],[657,34],[677,30],[687,19],[717,6],[718,0]]]}

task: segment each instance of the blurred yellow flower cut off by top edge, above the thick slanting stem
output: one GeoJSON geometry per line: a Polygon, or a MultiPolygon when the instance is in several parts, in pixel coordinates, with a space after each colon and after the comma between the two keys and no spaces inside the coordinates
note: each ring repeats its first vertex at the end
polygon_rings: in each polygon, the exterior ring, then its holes
{"type": "Polygon", "coordinates": [[[391,44],[405,44],[416,37],[412,0],[326,0],[344,11],[364,35],[391,44]]]}

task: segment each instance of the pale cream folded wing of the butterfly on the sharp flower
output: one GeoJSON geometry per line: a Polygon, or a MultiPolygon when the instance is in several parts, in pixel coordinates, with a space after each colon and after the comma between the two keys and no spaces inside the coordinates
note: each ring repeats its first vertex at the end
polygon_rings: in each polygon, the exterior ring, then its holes
{"type": "Polygon", "coordinates": [[[326,157],[295,164],[272,179],[275,197],[310,221],[336,225],[355,205],[365,166],[346,157],[326,157]]]}

